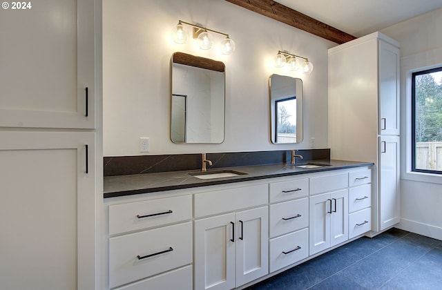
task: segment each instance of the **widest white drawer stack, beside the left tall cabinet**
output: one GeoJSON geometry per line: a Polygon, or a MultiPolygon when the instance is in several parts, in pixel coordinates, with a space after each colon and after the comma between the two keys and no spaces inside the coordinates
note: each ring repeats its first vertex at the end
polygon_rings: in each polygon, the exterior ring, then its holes
{"type": "Polygon", "coordinates": [[[108,208],[110,289],[192,289],[191,195],[108,208]]]}

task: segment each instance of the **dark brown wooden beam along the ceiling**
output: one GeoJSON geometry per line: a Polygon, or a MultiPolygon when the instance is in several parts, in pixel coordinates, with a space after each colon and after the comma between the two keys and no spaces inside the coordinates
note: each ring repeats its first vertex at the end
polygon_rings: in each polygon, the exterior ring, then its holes
{"type": "Polygon", "coordinates": [[[271,0],[226,0],[253,12],[278,20],[289,26],[307,31],[318,37],[342,44],[356,39],[353,35],[338,30],[301,12],[271,0]]]}

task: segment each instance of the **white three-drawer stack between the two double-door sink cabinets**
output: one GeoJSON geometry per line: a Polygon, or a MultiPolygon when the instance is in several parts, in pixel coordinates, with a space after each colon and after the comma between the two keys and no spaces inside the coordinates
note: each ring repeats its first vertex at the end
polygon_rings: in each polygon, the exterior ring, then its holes
{"type": "Polygon", "coordinates": [[[309,179],[269,184],[270,272],[309,256],[309,179]]]}

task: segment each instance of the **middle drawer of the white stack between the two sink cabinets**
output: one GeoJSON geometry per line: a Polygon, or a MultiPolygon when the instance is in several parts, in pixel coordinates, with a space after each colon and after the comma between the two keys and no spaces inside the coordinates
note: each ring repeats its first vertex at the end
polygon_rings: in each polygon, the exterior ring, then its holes
{"type": "Polygon", "coordinates": [[[270,206],[270,237],[309,226],[309,198],[270,206]]]}

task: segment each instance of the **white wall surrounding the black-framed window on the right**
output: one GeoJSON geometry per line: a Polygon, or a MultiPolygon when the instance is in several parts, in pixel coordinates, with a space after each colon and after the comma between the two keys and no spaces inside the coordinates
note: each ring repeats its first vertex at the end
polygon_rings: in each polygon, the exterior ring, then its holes
{"type": "Polygon", "coordinates": [[[382,30],[401,43],[401,224],[442,240],[442,176],[410,173],[410,73],[442,66],[442,9],[382,30]]]}

